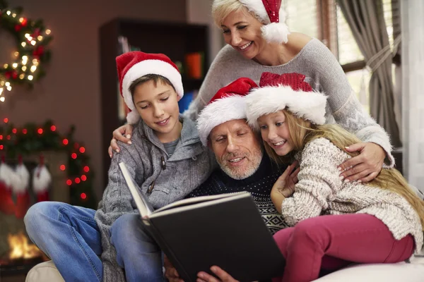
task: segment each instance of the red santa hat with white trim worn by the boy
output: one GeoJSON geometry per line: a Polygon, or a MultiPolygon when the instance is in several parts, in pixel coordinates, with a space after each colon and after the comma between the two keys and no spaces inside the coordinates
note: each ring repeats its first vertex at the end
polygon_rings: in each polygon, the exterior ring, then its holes
{"type": "Polygon", "coordinates": [[[141,78],[143,75],[162,75],[170,80],[179,97],[184,95],[182,78],[178,67],[164,54],[148,54],[141,51],[124,53],[117,56],[117,71],[122,97],[124,97],[126,106],[131,110],[126,116],[126,121],[129,123],[136,123],[140,119],[134,106],[131,92],[129,92],[129,87],[134,80],[141,78]]]}

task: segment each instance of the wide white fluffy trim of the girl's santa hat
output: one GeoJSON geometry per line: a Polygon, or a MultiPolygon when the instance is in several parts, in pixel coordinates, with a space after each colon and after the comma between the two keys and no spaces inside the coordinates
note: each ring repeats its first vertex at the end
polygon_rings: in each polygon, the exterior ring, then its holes
{"type": "Polygon", "coordinates": [[[319,92],[295,91],[290,86],[267,86],[246,96],[247,122],[259,130],[258,118],[286,109],[298,118],[315,124],[325,123],[326,96],[319,92]]]}

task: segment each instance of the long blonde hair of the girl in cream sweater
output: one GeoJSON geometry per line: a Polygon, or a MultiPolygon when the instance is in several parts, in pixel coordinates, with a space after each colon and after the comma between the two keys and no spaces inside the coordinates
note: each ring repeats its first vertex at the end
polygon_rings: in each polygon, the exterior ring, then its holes
{"type": "MultiPolygon", "coordinates": [[[[278,156],[269,145],[264,142],[266,153],[277,164],[293,161],[294,154],[302,150],[308,142],[314,139],[324,137],[330,140],[336,147],[343,152],[357,156],[358,152],[347,152],[345,147],[362,142],[358,137],[349,133],[344,128],[336,124],[329,125],[314,125],[310,121],[305,121],[303,118],[297,118],[289,111],[282,110],[285,115],[285,122],[288,125],[290,138],[293,142],[293,152],[288,156],[278,156]]],[[[424,230],[424,201],[421,200],[416,193],[411,190],[404,176],[395,168],[382,168],[379,175],[365,185],[370,185],[380,189],[389,190],[404,197],[406,201],[415,209],[420,217],[421,226],[424,230]]]]}

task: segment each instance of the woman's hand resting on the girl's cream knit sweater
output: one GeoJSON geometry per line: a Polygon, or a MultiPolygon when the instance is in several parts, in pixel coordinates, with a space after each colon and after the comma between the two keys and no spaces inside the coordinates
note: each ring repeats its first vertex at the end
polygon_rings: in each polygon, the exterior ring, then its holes
{"type": "Polygon", "coordinates": [[[378,176],[384,164],[386,152],[372,142],[361,142],[346,147],[348,152],[359,152],[358,156],[348,159],[338,166],[340,176],[345,182],[369,182],[378,176]]]}

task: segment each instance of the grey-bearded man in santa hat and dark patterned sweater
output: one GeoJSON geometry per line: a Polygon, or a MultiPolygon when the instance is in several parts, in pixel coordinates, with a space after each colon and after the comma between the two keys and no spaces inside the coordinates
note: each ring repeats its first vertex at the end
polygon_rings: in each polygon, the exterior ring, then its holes
{"type": "Polygon", "coordinates": [[[201,111],[199,137],[215,154],[220,168],[188,197],[247,191],[271,233],[287,227],[271,202],[271,189],[285,169],[271,163],[260,137],[246,123],[245,95],[257,85],[239,78],[221,88],[201,111]]]}

